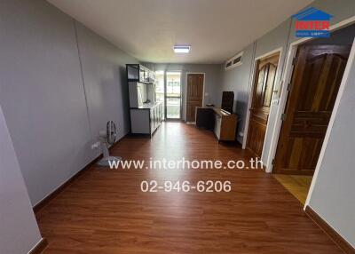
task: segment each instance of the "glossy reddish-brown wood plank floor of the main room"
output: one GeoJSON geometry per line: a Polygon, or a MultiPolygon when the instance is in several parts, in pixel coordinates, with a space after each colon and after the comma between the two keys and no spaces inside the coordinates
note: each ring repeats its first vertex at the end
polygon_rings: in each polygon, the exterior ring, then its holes
{"type": "MultiPolygon", "coordinates": [[[[248,160],[193,125],[125,138],[123,159],[248,160]]],[[[264,171],[91,169],[37,214],[44,253],[341,253],[300,202],[264,171]],[[145,179],[231,180],[230,193],[142,193],[145,179]]]]}

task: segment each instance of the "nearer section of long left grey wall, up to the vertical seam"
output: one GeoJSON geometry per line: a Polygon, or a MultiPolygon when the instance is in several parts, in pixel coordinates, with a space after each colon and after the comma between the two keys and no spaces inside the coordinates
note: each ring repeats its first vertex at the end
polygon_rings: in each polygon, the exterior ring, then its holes
{"type": "Polygon", "coordinates": [[[2,1],[0,103],[33,204],[90,162],[73,20],[44,1],[2,1]]]}

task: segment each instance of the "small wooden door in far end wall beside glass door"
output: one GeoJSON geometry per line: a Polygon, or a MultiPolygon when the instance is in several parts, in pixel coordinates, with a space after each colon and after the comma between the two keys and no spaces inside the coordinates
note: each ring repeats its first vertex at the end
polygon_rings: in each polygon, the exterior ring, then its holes
{"type": "Polygon", "coordinates": [[[186,122],[195,122],[196,107],[202,106],[203,74],[187,74],[186,122]]]}

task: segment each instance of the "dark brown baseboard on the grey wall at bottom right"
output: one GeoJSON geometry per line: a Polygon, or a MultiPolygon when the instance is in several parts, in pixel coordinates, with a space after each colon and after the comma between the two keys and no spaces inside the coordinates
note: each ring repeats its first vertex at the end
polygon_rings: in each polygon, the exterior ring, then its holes
{"type": "Polygon", "coordinates": [[[305,207],[305,213],[309,218],[313,220],[329,237],[335,242],[335,244],[343,250],[344,253],[354,254],[355,249],[351,246],[349,242],[343,239],[342,235],[338,234],[332,226],[329,226],[327,222],[319,216],[319,214],[312,210],[310,206],[305,207]]]}

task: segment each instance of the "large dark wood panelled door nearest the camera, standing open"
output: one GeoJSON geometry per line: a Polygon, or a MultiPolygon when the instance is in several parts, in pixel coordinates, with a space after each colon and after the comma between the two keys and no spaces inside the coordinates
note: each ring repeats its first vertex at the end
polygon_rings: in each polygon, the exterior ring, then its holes
{"type": "Polygon", "coordinates": [[[350,50],[345,45],[298,48],[274,172],[313,174],[350,50]]]}

